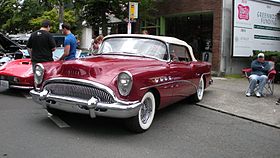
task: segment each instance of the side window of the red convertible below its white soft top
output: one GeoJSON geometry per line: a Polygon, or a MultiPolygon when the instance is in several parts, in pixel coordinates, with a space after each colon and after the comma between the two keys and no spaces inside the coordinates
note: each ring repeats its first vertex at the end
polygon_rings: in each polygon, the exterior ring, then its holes
{"type": "Polygon", "coordinates": [[[171,60],[180,62],[191,61],[189,49],[185,46],[170,44],[169,52],[171,60]]]}

